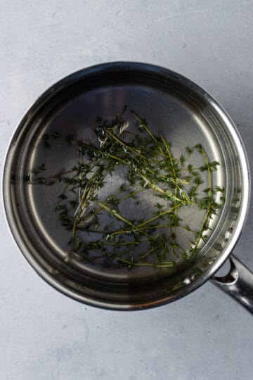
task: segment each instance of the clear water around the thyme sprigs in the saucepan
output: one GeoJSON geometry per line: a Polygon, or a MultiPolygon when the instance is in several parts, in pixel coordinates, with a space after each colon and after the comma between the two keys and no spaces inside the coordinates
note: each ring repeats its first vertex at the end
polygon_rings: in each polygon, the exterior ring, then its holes
{"type": "MultiPolygon", "coordinates": [[[[223,165],[223,156],[219,148],[219,142],[216,139],[212,127],[194,104],[186,103],[179,96],[166,94],[163,91],[152,89],[150,87],[124,86],[124,87],[103,87],[94,89],[87,93],[72,99],[65,107],[53,115],[32,141],[37,146],[36,154],[31,155],[27,168],[36,167],[45,163],[48,168],[47,174],[55,173],[64,168],[72,167],[76,163],[77,155],[73,147],[67,148],[66,145],[53,144],[53,148],[46,149],[43,144],[43,135],[51,132],[61,132],[62,134],[73,134],[75,139],[85,141],[86,143],[97,144],[96,134],[93,129],[96,125],[96,118],[100,116],[103,119],[110,119],[119,115],[127,105],[125,120],[129,120],[130,127],[133,127],[133,118],[128,110],[133,108],[143,118],[148,120],[148,125],[152,132],[161,132],[164,139],[171,141],[172,151],[175,157],[179,157],[185,151],[186,146],[202,144],[205,147],[207,156],[210,161],[219,161],[219,170],[213,173],[213,182],[216,185],[224,186],[225,169],[223,165]]],[[[200,156],[193,156],[193,166],[202,165],[200,156]]],[[[208,186],[207,176],[203,175],[204,184],[202,189],[208,186]]],[[[108,177],[107,184],[103,189],[102,198],[106,198],[114,190],[124,183],[124,170],[119,170],[113,177],[108,177]]],[[[62,189],[60,184],[53,186],[27,186],[29,193],[29,208],[31,210],[32,222],[36,226],[40,236],[43,236],[46,244],[50,246],[61,260],[69,262],[70,234],[62,227],[58,220],[58,214],[55,213],[56,196],[62,189]]],[[[143,217],[150,217],[153,204],[157,198],[151,191],[144,191],[141,197],[138,197],[138,214],[143,217]]],[[[122,203],[124,215],[131,219],[136,218],[136,203],[133,200],[122,203]]],[[[201,211],[193,208],[184,208],[179,215],[186,224],[197,230],[202,223],[203,214],[201,211]]],[[[216,218],[212,220],[212,227],[216,224],[216,218]]],[[[191,236],[186,230],[180,233],[181,246],[188,245],[191,236]]],[[[86,236],[87,239],[87,236],[86,236]]],[[[91,239],[89,236],[88,239],[91,239]]],[[[141,246],[139,246],[141,248],[141,246]]],[[[168,257],[167,260],[176,260],[176,271],[180,271],[185,265],[185,259],[168,257]]],[[[72,258],[70,265],[79,267],[84,271],[96,272],[101,271],[100,266],[90,265],[84,260],[72,258]]],[[[128,277],[135,276],[154,276],[157,271],[153,268],[134,268],[127,271],[128,277]]],[[[118,270],[110,270],[110,276],[119,275],[118,270]]],[[[161,272],[161,271],[159,271],[161,272]]],[[[108,270],[103,268],[103,273],[108,275],[108,270]]],[[[124,275],[121,270],[121,276],[124,275]]]]}

